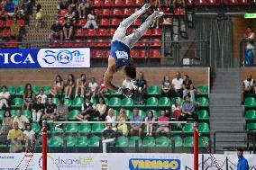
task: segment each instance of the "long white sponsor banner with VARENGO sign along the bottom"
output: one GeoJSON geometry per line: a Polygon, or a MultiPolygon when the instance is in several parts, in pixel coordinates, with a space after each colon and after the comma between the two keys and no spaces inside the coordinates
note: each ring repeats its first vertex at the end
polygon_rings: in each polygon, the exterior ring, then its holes
{"type": "MultiPolygon", "coordinates": [[[[41,154],[34,154],[31,161],[30,155],[24,156],[23,153],[0,154],[0,170],[25,170],[26,166],[27,170],[41,170],[41,154]]],[[[256,155],[244,157],[250,169],[256,169],[256,155]]],[[[226,166],[228,170],[236,170],[235,155],[215,155],[215,158],[222,170],[227,170],[226,166]]],[[[50,153],[47,160],[48,170],[185,170],[186,166],[193,169],[191,154],[50,153]]],[[[209,155],[199,155],[199,169],[217,170],[217,167],[209,155]]]]}

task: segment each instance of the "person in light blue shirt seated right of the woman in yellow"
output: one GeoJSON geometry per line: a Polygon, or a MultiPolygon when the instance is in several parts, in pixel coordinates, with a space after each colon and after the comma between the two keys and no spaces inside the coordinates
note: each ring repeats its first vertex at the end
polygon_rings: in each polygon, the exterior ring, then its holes
{"type": "MultiPolygon", "coordinates": [[[[133,109],[133,117],[131,121],[143,121],[143,118],[139,116],[138,109],[133,109]]],[[[139,132],[139,136],[142,137],[142,122],[131,122],[131,135],[134,135],[135,131],[139,132]]]]}

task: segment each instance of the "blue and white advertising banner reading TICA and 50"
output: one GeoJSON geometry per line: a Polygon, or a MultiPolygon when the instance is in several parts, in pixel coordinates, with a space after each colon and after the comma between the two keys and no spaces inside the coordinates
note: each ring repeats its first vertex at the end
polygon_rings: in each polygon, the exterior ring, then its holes
{"type": "Polygon", "coordinates": [[[0,68],[90,67],[90,49],[0,49],[0,68]]]}

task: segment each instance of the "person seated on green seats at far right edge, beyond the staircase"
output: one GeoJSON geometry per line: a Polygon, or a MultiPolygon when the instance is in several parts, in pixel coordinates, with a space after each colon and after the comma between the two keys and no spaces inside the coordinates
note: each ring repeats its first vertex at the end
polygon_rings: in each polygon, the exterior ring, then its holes
{"type": "Polygon", "coordinates": [[[255,80],[251,78],[250,74],[247,75],[246,80],[242,82],[242,103],[244,103],[246,94],[249,93],[256,94],[255,80]]]}

